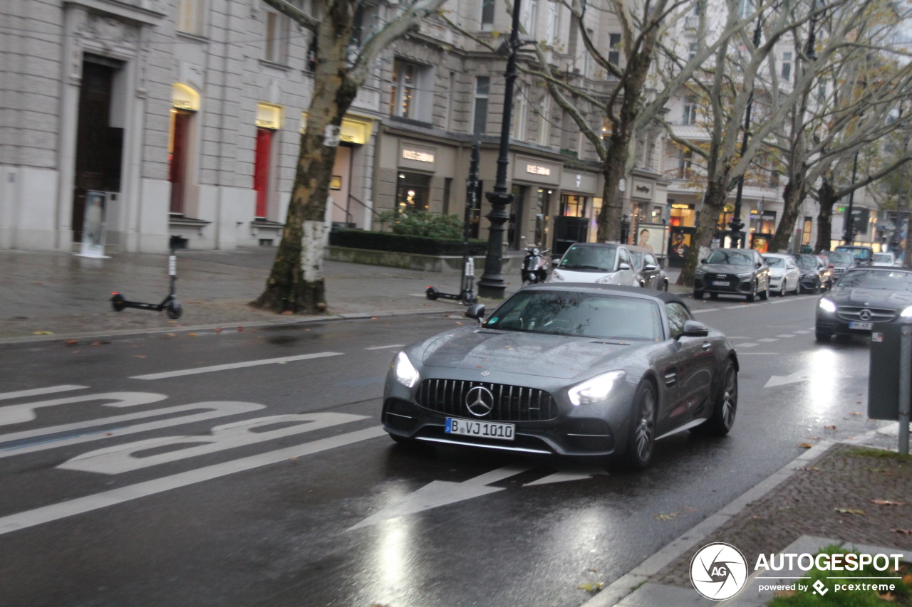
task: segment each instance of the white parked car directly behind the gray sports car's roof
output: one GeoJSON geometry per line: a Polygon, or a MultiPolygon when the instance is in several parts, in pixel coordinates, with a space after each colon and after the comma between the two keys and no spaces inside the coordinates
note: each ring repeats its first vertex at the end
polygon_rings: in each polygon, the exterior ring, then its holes
{"type": "Polygon", "coordinates": [[[577,242],[557,262],[549,283],[640,286],[633,256],[623,244],[577,242]]]}

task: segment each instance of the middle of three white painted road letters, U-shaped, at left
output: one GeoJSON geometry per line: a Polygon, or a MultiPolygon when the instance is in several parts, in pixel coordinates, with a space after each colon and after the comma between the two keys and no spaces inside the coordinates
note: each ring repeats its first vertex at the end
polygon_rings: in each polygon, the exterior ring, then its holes
{"type": "Polygon", "coordinates": [[[258,405],[256,403],[211,401],[205,403],[193,403],[192,405],[169,406],[163,409],[152,409],[151,411],[130,413],[124,416],[99,417],[98,419],[89,419],[88,421],[76,422],[73,424],[63,424],[62,426],[41,427],[35,430],[23,430],[22,432],[13,432],[11,434],[0,435],[0,443],[22,441],[26,440],[27,438],[35,437],[41,438],[37,441],[29,441],[25,444],[7,445],[6,447],[0,447],[0,458],[10,458],[12,456],[21,455],[23,453],[32,453],[34,451],[42,451],[44,449],[54,449],[58,447],[67,447],[69,445],[78,445],[79,443],[86,443],[91,440],[101,440],[102,438],[122,437],[124,435],[136,434],[138,432],[158,430],[162,427],[192,424],[193,422],[202,421],[204,419],[212,419],[213,417],[236,416],[242,413],[250,413],[251,411],[256,411],[263,408],[265,408],[265,405],[258,405]],[[109,426],[110,424],[131,421],[133,419],[166,416],[173,413],[182,413],[184,411],[197,411],[199,409],[209,409],[209,411],[197,413],[192,416],[169,417],[168,419],[160,419],[158,421],[151,421],[145,424],[137,424],[135,426],[99,429],[101,426],[109,426]],[[53,436],[87,427],[92,428],[92,430],[84,434],[79,434],[77,436],[73,436],[71,434],[67,434],[66,436],[62,437],[53,436]]]}

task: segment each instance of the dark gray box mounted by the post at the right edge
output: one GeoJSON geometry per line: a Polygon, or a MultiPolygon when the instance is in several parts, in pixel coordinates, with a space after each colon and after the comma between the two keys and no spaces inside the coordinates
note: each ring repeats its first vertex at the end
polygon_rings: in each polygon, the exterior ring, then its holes
{"type": "Polygon", "coordinates": [[[875,323],[867,379],[867,417],[899,420],[899,342],[903,325],[875,323]]]}

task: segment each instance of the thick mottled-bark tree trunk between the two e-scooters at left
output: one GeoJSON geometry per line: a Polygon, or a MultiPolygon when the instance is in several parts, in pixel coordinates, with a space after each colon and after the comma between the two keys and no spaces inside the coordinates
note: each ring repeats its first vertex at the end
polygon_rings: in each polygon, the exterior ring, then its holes
{"type": "Polygon", "coordinates": [[[254,306],[274,312],[320,314],[326,310],[323,250],[326,246],[326,198],[336,161],[336,147],[324,145],[326,127],[339,127],[358,94],[348,77],[348,40],[354,2],[327,6],[316,31],[314,94],[301,136],[295,184],[266,289],[254,306]]]}

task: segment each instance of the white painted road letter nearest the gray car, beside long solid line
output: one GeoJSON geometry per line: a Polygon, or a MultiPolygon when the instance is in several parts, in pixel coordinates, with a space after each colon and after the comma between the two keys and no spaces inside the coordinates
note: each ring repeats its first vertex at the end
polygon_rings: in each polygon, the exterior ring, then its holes
{"type": "Polygon", "coordinates": [[[212,435],[192,435],[183,437],[156,437],[139,440],[126,445],[101,448],[67,459],[57,466],[64,470],[98,472],[98,474],[121,474],[140,468],[149,468],[159,464],[177,461],[178,459],[215,453],[225,449],[255,445],[275,438],[291,437],[295,434],[311,432],[325,427],[348,424],[367,416],[356,416],[348,413],[306,413],[302,415],[284,415],[256,417],[232,424],[212,428],[212,435]],[[293,424],[293,426],[286,426],[293,424]],[[263,430],[264,427],[282,425],[274,430],[263,430]],[[259,430],[259,431],[257,431],[259,430]],[[181,447],[166,453],[140,455],[143,451],[161,448],[181,447]]]}

